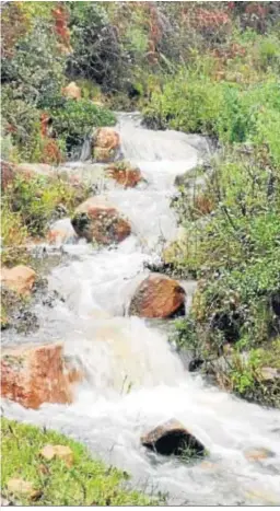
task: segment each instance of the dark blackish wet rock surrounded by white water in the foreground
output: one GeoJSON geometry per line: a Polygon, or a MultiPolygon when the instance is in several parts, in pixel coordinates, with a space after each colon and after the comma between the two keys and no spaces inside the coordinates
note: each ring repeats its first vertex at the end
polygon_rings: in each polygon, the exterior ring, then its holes
{"type": "Polygon", "coordinates": [[[145,448],[159,453],[194,457],[205,454],[205,446],[178,420],[171,419],[141,437],[145,448]]]}

